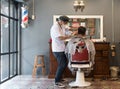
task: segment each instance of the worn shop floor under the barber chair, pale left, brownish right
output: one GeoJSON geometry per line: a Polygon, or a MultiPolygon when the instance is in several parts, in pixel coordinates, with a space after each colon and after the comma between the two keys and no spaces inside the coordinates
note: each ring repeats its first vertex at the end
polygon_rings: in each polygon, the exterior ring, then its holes
{"type": "Polygon", "coordinates": [[[32,78],[30,75],[21,75],[1,84],[0,89],[120,89],[119,79],[116,81],[112,81],[110,79],[96,79],[92,81],[91,79],[87,79],[92,83],[92,85],[83,88],[71,88],[68,83],[73,79],[67,80],[67,82],[64,82],[66,85],[65,88],[58,88],[57,86],[54,86],[54,79],[48,79],[47,76],[32,78]]]}

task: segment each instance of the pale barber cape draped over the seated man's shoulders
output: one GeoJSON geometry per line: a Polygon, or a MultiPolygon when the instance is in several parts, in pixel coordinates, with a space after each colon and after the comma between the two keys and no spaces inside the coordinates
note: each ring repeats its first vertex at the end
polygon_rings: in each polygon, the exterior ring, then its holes
{"type": "MultiPolygon", "coordinates": [[[[87,38],[80,38],[80,37],[73,37],[71,38],[70,41],[68,41],[67,45],[66,45],[66,49],[65,49],[65,53],[66,53],[66,56],[69,60],[69,63],[68,63],[68,68],[73,72],[74,71],[74,68],[71,67],[71,60],[73,58],[73,55],[75,54],[76,52],[76,47],[77,45],[81,42],[81,41],[84,41],[85,42],[85,45],[87,47],[87,51],[88,53],[90,53],[91,55],[91,63],[92,65],[95,64],[94,62],[94,57],[95,57],[95,47],[94,47],[94,44],[93,42],[90,40],[90,39],[87,39],[87,38]]],[[[81,52],[82,49],[79,48],[77,49],[78,52],[81,52]]],[[[93,68],[92,68],[93,69],[93,68]]],[[[91,70],[91,69],[87,69],[87,70],[91,70]]]]}

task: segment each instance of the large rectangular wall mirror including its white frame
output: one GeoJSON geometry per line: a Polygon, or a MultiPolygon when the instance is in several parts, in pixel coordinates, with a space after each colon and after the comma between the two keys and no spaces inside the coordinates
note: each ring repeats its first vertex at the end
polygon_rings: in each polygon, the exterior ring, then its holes
{"type": "MultiPolygon", "coordinates": [[[[53,16],[53,23],[61,15],[53,16]]],[[[79,26],[87,28],[87,37],[91,37],[94,41],[103,41],[103,16],[102,15],[66,15],[70,18],[68,25],[73,31],[79,26]]]]}

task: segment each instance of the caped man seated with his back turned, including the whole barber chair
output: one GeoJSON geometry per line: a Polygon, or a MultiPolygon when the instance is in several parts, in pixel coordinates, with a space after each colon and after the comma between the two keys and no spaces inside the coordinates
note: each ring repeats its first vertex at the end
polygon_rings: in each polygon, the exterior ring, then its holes
{"type": "Polygon", "coordinates": [[[75,82],[69,83],[71,87],[85,87],[90,86],[91,83],[86,82],[84,79],[84,72],[88,72],[93,69],[94,65],[94,56],[95,56],[95,47],[93,42],[86,38],[86,28],[79,27],[78,34],[71,38],[67,43],[65,53],[69,59],[68,67],[76,73],[75,82]]]}

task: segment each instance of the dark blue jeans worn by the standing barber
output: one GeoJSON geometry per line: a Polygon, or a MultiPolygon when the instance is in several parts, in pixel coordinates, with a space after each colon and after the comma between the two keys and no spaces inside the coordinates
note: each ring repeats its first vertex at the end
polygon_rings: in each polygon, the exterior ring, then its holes
{"type": "Polygon", "coordinates": [[[57,59],[58,67],[55,75],[55,83],[60,82],[65,68],[67,67],[67,58],[64,52],[53,52],[57,59]]]}

